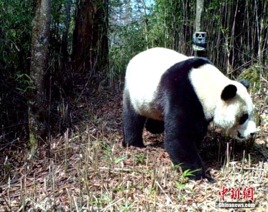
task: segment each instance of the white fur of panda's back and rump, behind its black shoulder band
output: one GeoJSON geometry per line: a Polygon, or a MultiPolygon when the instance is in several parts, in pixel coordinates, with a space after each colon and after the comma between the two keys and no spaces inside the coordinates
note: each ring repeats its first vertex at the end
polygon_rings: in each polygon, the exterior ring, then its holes
{"type": "Polygon", "coordinates": [[[137,113],[162,119],[162,115],[157,115],[152,104],[160,78],[172,65],[186,59],[187,56],[173,50],[157,47],[139,53],[129,62],[125,90],[129,92],[131,103],[137,113]],[[148,113],[149,111],[153,113],[148,113]]]}

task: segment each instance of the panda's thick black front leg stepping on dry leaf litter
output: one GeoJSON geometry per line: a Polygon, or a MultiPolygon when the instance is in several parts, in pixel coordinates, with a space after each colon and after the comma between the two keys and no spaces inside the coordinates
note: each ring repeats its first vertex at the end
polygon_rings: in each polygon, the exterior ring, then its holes
{"type": "Polygon", "coordinates": [[[201,169],[194,172],[194,176],[189,176],[190,179],[208,178],[209,181],[214,182],[212,178],[206,176],[202,158],[196,147],[196,143],[200,142],[196,139],[200,139],[201,136],[197,135],[198,130],[194,129],[194,124],[190,124],[188,118],[186,119],[185,113],[177,111],[165,116],[165,150],[170,154],[173,164],[180,164],[183,171],[201,169]]]}

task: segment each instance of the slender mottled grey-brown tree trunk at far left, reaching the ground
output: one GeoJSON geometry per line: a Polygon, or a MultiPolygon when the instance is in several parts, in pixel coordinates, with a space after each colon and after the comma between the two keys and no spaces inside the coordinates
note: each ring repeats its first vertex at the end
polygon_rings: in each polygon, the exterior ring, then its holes
{"type": "Polygon", "coordinates": [[[29,137],[35,151],[38,140],[47,133],[44,75],[47,68],[48,37],[51,15],[51,0],[37,2],[32,29],[31,87],[29,94],[29,137]]]}

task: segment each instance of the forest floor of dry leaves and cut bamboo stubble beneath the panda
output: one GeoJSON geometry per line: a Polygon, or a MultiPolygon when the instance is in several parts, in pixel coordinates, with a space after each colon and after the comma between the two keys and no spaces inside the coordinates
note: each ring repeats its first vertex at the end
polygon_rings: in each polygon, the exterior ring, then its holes
{"type": "Polygon", "coordinates": [[[211,184],[172,168],[164,135],[144,131],[150,147],[123,148],[121,101],[112,89],[79,96],[68,115],[80,121],[54,137],[49,152],[44,142],[37,158],[19,141],[0,146],[0,211],[229,211],[217,206],[224,187],[227,202],[250,202],[253,188],[255,208],[235,211],[267,211],[267,108],[252,148],[210,126],[200,154],[217,180],[211,184]],[[239,200],[231,199],[231,188],[240,189],[239,200]]]}

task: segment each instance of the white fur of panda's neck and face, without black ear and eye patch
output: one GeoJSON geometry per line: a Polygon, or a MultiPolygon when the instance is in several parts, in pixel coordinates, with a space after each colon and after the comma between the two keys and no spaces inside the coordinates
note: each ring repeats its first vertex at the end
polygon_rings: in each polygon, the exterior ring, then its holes
{"type": "Polygon", "coordinates": [[[238,137],[238,132],[244,138],[256,132],[252,100],[247,89],[240,82],[230,80],[210,64],[192,69],[190,79],[207,120],[213,118],[216,126],[226,129],[237,139],[241,139],[238,137]],[[236,86],[236,96],[224,101],[221,99],[221,93],[230,84],[236,86]],[[248,120],[239,125],[240,117],[246,113],[249,115],[248,120]]]}

